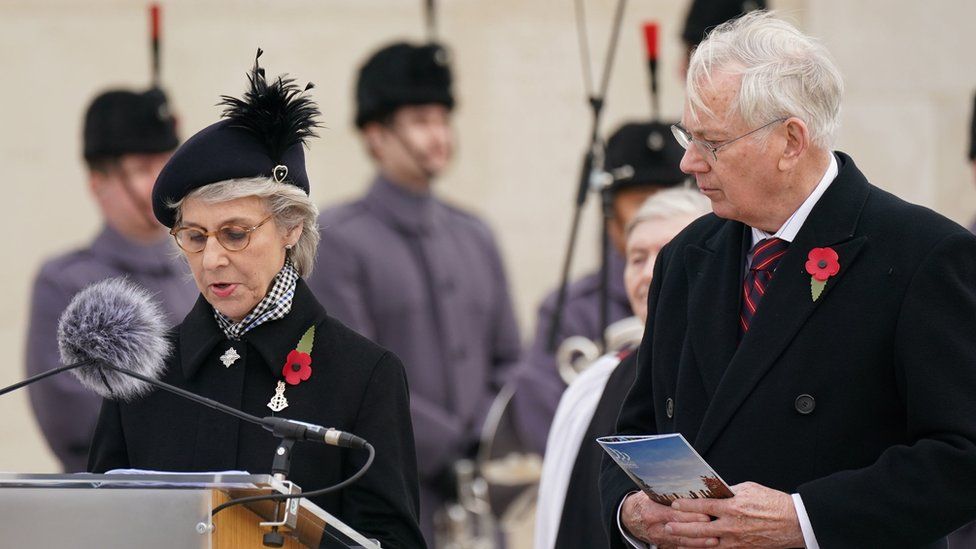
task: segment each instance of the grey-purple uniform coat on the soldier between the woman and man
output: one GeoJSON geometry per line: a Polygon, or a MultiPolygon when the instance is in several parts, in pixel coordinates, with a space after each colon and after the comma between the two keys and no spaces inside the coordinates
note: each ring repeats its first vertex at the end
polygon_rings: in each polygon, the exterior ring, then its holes
{"type": "Polygon", "coordinates": [[[406,368],[429,535],[439,479],[474,447],[519,357],[501,257],[482,221],[383,178],[362,199],[323,212],[319,227],[309,287],[406,368]]]}

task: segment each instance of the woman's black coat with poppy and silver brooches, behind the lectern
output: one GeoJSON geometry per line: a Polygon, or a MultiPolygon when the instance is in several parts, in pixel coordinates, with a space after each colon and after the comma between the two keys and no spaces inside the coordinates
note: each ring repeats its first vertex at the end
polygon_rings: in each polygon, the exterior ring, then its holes
{"type": "MultiPolygon", "coordinates": [[[[372,467],[359,481],[313,501],[383,547],[424,547],[403,366],[329,317],[303,281],[285,318],[253,329],[241,341],[224,336],[201,297],[171,334],[175,351],[162,380],[259,417],[273,415],[267,403],[285,357],[312,324],[312,375],[287,387],[289,406],[276,415],[348,431],[376,448],[372,467]],[[241,358],[228,368],[219,357],[231,346],[241,358]]],[[[276,447],[276,439],[259,426],[156,391],[128,404],[104,402],[89,470],[269,473],[276,447]]],[[[362,450],[298,443],[288,478],[304,491],[324,488],[351,476],[365,459],[362,450]]]]}

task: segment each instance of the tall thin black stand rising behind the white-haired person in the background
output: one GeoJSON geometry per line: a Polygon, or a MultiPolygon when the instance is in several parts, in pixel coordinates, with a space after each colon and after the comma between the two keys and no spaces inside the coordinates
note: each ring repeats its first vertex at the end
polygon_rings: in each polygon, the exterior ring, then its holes
{"type": "MultiPolygon", "coordinates": [[[[603,114],[603,106],[607,94],[607,87],[610,84],[610,69],[613,66],[613,59],[616,53],[617,44],[620,38],[620,25],[623,20],[624,7],[626,5],[626,0],[618,0],[616,15],[614,17],[613,30],[610,35],[610,43],[607,46],[607,58],[603,65],[603,77],[600,85],[600,92],[588,93],[590,109],[593,114],[592,126],[590,130],[590,142],[587,148],[586,155],[583,159],[583,167],[580,173],[579,183],[576,190],[576,204],[573,211],[573,221],[570,226],[569,232],[569,243],[566,248],[566,254],[563,259],[562,274],[560,275],[559,290],[556,294],[556,307],[552,312],[551,322],[549,324],[549,333],[547,335],[546,349],[550,353],[556,351],[556,347],[559,344],[557,338],[559,337],[559,330],[561,328],[563,309],[566,306],[566,289],[569,282],[569,269],[573,262],[573,254],[576,249],[576,236],[579,232],[579,222],[580,215],[583,210],[583,205],[586,203],[586,198],[589,192],[592,191],[602,191],[605,187],[605,177],[603,177],[603,155],[604,155],[604,144],[599,137],[600,119],[603,114]]],[[[590,76],[590,65],[589,65],[589,50],[587,48],[586,41],[586,30],[585,30],[585,16],[583,15],[583,4],[582,0],[577,0],[576,3],[577,12],[577,23],[580,32],[580,48],[583,57],[583,75],[586,81],[586,86],[588,90],[592,89],[592,78],[590,76]]],[[[606,194],[606,193],[603,193],[606,194]]],[[[606,207],[604,206],[604,210],[606,207]]],[[[600,342],[601,345],[605,345],[605,335],[604,330],[607,327],[607,299],[608,299],[608,244],[609,236],[607,234],[607,217],[606,213],[603,215],[603,245],[601,266],[600,266],[600,342]]]]}

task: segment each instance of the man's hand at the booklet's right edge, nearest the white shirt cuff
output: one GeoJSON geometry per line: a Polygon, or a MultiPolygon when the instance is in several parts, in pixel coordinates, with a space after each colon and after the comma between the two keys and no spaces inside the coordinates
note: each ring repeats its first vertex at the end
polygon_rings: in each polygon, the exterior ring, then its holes
{"type": "MultiPolygon", "coordinates": [[[[664,531],[682,547],[706,547],[703,540],[718,538],[711,547],[803,547],[803,532],[789,494],[754,482],[732,487],[729,499],[679,499],[671,504],[682,513],[715,517],[708,523],[669,521],[664,531]]],[[[625,515],[626,516],[626,515],[625,515]]]]}

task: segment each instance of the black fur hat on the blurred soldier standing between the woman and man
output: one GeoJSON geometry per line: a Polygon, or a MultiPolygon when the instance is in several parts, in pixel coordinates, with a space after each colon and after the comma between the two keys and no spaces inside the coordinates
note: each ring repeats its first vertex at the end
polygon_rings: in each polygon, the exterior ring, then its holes
{"type": "Polygon", "coordinates": [[[382,121],[405,105],[454,108],[447,50],[436,43],[397,42],[374,53],[356,81],[356,126],[382,121]]]}

